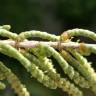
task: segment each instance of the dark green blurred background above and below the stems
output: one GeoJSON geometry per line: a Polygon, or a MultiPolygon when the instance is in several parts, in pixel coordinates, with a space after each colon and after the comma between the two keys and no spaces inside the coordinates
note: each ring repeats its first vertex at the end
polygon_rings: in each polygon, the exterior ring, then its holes
{"type": "MultiPolygon", "coordinates": [[[[16,33],[40,30],[59,35],[72,28],[96,31],[96,0],[0,0],[0,25],[4,24],[10,24],[11,31],[16,33]]],[[[92,54],[88,59],[95,63],[96,56],[92,54]]],[[[16,60],[2,54],[0,60],[26,84],[31,96],[67,96],[60,89],[50,90],[30,79],[30,74],[16,60]]],[[[96,63],[93,67],[96,68],[96,63]]],[[[91,96],[88,92],[85,91],[86,96],[91,96]]],[[[9,85],[0,91],[0,96],[16,94],[9,85]]]]}

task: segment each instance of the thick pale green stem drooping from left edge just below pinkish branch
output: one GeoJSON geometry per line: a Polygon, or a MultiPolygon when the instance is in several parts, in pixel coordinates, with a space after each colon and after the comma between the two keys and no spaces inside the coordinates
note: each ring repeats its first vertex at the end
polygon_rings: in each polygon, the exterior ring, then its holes
{"type": "Polygon", "coordinates": [[[37,78],[39,82],[43,83],[46,87],[51,89],[57,88],[57,84],[54,82],[54,80],[45,75],[42,70],[40,70],[34,63],[25,58],[18,50],[10,45],[5,45],[3,43],[0,43],[0,47],[2,50],[4,50],[3,52],[5,52],[5,55],[9,54],[8,56],[20,61],[20,63],[27,69],[27,71],[30,72],[33,77],[37,78]]]}

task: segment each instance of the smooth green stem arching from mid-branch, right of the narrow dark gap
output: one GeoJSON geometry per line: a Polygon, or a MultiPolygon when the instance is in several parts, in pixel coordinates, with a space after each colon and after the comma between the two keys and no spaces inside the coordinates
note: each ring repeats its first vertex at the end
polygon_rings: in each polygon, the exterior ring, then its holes
{"type": "Polygon", "coordinates": [[[40,44],[38,45],[38,49],[42,49],[48,54],[51,54],[60,64],[65,74],[67,74],[76,84],[78,84],[80,87],[88,87],[86,80],[77,71],[75,71],[74,68],[71,67],[52,47],[40,44]]]}

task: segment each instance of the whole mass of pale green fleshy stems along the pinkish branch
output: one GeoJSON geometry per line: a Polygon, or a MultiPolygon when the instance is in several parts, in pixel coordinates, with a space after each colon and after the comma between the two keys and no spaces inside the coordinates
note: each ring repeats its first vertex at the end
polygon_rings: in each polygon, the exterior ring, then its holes
{"type": "MultiPolygon", "coordinates": [[[[82,46],[80,44],[76,49],[64,48],[62,50],[56,50],[49,45],[40,43],[35,48],[18,48],[17,46],[20,41],[27,40],[29,37],[39,37],[52,42],[58,42],[60,38],[60,40],[64,40],[62,42],[66,42],[71,36],[82,35],[96,41],[95,33],[83,29],[73,29],[66,31],[66,38],[65,34],[56,36],[40,31],[27,31],[17,35],[10,32],[9,29],[9,25],[0,26],[0,35],[9,38],[8,40],[14,40],[16,45],[13,47],[1,42],[0,52],[18,60],[27,72],[30,73],[31,77],[50,89],[61,88],[69,96],[84,96],[84,88],[90,89],[96,94],[96,73],[90,62],[81,54],[81,51],[84,53],[84,50],[87,50],[86,53],[96,54],[95,45],[85,46],[83,44],[82,46]],[[63,76],[54,67],[55,64],[52,58],[61,67],[63,76]]],[[[71,40],[67,42],[70,43],[71,40]]],[[[61,44],[58,45],[58,48],[61,47],[61,44]]],[[[26,87],[21,84],[16,74],[2,62],[0,62],[0,80],[7,80],[18,96],[30,96],[26,87]]],[[[5,85],[0,81],[0,89],[4,88],[5,85]]]]}

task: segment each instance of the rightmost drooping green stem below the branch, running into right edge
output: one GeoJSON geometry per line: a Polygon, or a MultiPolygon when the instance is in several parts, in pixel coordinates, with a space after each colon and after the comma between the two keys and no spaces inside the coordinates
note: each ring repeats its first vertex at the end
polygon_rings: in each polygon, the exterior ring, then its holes
{"type": "Polygon", "coordinates": [[[79,64],[83,67],[84,70],[89,74],[90,79],[88,79],[92,91],[96,93],[94,89],[96,89],[96,73],[94,69],[91,67],[90,63],[84,58],[81,54],[76,52],[76,50],[70,50],[72,55],[80,62],[79,64]]]}

